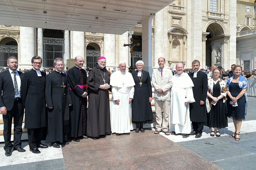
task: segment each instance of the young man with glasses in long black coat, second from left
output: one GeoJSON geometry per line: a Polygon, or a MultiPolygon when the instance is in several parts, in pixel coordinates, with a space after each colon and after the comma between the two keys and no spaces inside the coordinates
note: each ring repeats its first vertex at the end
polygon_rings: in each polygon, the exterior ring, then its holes
{"type": "Polygon", "coordinates": [[[44,127],[46,127],[45,78],[40,71],[42,58],[34,56],[31,59],[33,69],[25,72],[21,79],[21,99],[25,108],[25,126],[27,129],[30,151],[39,154],[37,147],[48,148],[41,143],[44,127]]]}

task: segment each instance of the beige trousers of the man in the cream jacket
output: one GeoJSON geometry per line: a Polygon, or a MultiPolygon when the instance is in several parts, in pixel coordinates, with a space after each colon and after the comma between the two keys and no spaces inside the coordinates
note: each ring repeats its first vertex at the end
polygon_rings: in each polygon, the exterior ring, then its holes
{"type": "Polygon", "coordinates": [[[156,130],[158,131],[168,131],[168,116],[169,116],[169,107],[170,107],[170,100],[155,100],[155,120],[156,120],[156,130]],[[162,117],[162,110],[163,110],[163,117],[162,117]]]}

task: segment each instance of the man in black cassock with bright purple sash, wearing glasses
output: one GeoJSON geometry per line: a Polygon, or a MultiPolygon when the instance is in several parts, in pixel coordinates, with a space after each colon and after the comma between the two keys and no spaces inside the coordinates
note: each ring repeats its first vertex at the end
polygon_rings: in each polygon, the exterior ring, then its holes
{"type": "Polygon", "coordinates": [[[69,136],[73,137],[74,142],[80,142],[78,137],[88,138],[86,136],[87,123],[87,94],[86,85],[87,75],[82,69],[84,59],[82,56],[75,57],[75,66],[69,69],[67,74],[72,106],[70,106],[69,136]]]}

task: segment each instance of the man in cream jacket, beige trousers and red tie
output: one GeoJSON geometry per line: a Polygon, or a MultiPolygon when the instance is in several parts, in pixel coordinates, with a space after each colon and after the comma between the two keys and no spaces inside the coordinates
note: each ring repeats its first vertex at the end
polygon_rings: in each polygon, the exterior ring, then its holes
{"type": "Polygon", "coordinates": [[[161,131],[165,135],[170,135],[168,129],[168,115],[170,106],[170,89],[172,87],[172,72],[164,67],[165,59],[158,59],[159,68],[152,73],[152,85],[154,87],[155,113],[156,113],[156,130],[154,134],[161,131]],[[162,117],[163,110],[163,117],[162,117]]]}

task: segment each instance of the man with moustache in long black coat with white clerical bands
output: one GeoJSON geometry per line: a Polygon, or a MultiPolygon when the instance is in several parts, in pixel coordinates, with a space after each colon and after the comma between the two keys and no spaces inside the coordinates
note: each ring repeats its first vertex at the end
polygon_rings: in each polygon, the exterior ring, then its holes
{"type": "Polygon", "coordinates": [[[190,120],[192,122],[193,131],[190,135],[196,135],[196,138],[202,136],[203,123],[207,120],[206,116],[206,96],[207,96],[207,74],[199,70],[200,61],[192,62],[193,73],[189,74],[194,83],[193,94],[196,102],[189,104],[190,120]]]}

